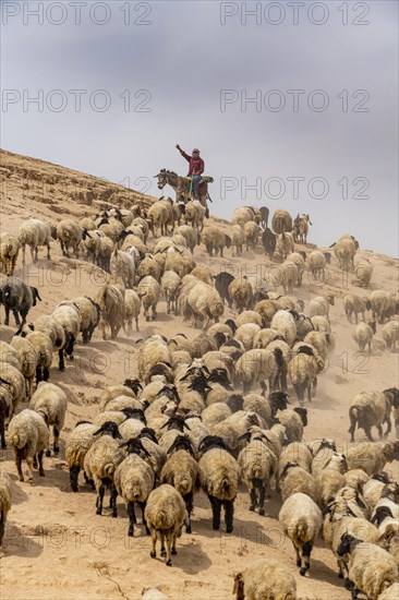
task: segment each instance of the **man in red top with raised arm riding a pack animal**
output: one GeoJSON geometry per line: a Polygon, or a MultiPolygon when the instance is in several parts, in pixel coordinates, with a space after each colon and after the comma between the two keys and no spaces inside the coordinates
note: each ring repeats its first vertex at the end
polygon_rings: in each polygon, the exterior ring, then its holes
{"type": "Polygon", "coordinates": [[[208,183],[213,182],[211,177],[202,176],[204,172],[205,164],[200,157],[200,151],[194,149],[192,155],[189,156],[181,149],[179,144],[176,146],[180,154],[190,163],[189,175],[186,177],[179,176],[173,171],[161,169],[155,177],[158,179],[158,189],[162,190],[165,185],[171,185],[176,191],[177,202],[186,204],[191,200],[197,200],[206,208],[206,217],[209,216],[207,207],[207,199],[211,202],[208,194],[208,183]]]}

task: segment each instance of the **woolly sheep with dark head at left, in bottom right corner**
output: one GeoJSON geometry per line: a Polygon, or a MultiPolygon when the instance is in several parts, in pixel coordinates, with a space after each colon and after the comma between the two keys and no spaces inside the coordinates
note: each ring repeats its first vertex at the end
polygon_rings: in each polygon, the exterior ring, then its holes
{"type": "Polygon", "coordinates": [[[338,555],[350,553],[347,586],[352,590],[352,599],[363,591],[371,600],[398,583],[398,565],[389,552],[375,543],[362,544],[361,540],[344,533],[338,548],[338,555]]]}

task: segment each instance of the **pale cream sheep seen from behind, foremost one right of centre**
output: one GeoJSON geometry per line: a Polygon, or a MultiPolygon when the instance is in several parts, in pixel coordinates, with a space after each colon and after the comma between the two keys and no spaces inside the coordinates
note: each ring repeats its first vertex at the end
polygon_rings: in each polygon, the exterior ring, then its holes
{"type": "Polygon", "coordinates": [[[278,520],[292,541],[297,554],[297,566],[304,576],[310,568],[311,552],[322,528],[322,513],[313,500],[301,492],[286,500],[278,520]]]}

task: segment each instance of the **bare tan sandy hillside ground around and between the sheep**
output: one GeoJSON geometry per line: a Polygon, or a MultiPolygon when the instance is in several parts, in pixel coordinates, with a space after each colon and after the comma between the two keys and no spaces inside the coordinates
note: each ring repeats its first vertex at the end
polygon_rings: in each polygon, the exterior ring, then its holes
{"type": "MultiPolygon", "coordinates": [[[[146,196],[109,182],[11,153],[4,153],[1,163],[1,231],[15,231],[25,218],[33,216],[57,224],[61,215],[77,219],[94,214],[107,202],[120,202],[121,205],[132,201],[148,202],[146,196]]],[[[217,223],[227,230],[226,221],[217,223]]],[[[311,241],[312,230],[309,238],[311,241]]],[[[332,241],[326,232],[326,247],[332,241]]],[[[371,251],[360,251],[358,255],[367,257],[374,265],[368,290],[353,288],[352,277],[347,280],[335,260],[328,269],[326,285],[314,285],[305,274],[303,287],[300,291],[295,289],[297,297],[302,298],[305,305],[315,295],[327,291],[337,295],[330,311],[336,348],[319,376],[314,401],[306,404],[305,439],[334,437],[342,451],[349,446],[348,406],[353,396],[363,389],[379,391],[398,383],[398,353],[385,348],[380,326],[372,356],[360,356],[352,340],[353,325],[347,322],[340,300],[349,290],[366,296],[377,288],[397,291],[398,261],[371,251]]],[[[35,265],[28,259],[25,269],[21,268],[20,259],[15,273],[40,288],[43,302],[32,310],[32,319],[51,312],[62,300],[83,293],[94,296],[104,283],[105,275],[97,267],[62,259],[56,242],[52,260],[44,256],[45,252],[39,251],[35,265]]],[[[227,251],[225,259],[215,260],[203,247],[197,247],[194,259],[214,274],[230,269],[234,274],[246,273],[252,281],[267,278],[267,269],[273,266],[261,249],[256,253],[244,252],[242,257],[232,257],[227,251]]],[[[267,504],[267,516],[261,517],[247,511],[247,494],[241,488],[235,501],[232,535],[211,530],[210,507],[205,495],[200,493],[195,497],[193,533],[183,533],[173,567],[167,568],[160,559],[149,557],[149,539],[142,527],[137,527],[135,538],[126,536],[128,520],[120,500],[118,519],[110,517],[108,508],[98,517],[95,496],[87,487],[82,485],[78,494],[71,492],[63,459],[65,437],[77,420],[90,419],[97,412],[97,398],[107,384],[121,383],[126,376],[136,375],[138,346],[135,341],[154,332],[169,337],[178,332],[188,336],[198,333],[182,323],[180,316],[167,315],[164,300],[158,305],[158,313],[155,323],[146,324],[141,319],[140,333],[130,338],[122,332],[116,341],[104,341],[95,333],[89,346],[84,347],[80,341],[75,361],[68,363],[64,373],[59,373],[53,364],[50,381],[66,392],[69,408],[60,456],[45,459],[45,479],[36,477],[33,487],[20,483],[12,452],[1,451],[0,465],[13,480],[13,506],[0,553],[1,600],[133,600],[148,587],[159,588],[173,600],[227,599],[232,597],[233,575],[259,557],[274,557],[292,568],[301,599],[349,599],[350,593],[337,577],[334,556],[322,540],[312,555],[310,576],[302,578],[297,574],[291,543],[285,539],[277,520],[281,503],[276,493],[267,504]]],[[[230,315],[233,313],[227,309],[226,317],[230,315]]],[[[1,339],[9,341],[14,331],[14,326],[0,325],[1,339]]],[[[364,437],[356,434],[356,441],[364,443],[364,437]]],[[[397,464],[388,470],[398,477],[397,464]]]]}

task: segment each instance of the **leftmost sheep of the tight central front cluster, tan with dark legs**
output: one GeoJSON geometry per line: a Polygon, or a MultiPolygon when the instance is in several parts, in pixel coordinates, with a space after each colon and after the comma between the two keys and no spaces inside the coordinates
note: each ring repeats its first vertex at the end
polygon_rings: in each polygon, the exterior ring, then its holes
{"type": "MultiPolygon", "coordinates": [[[[95,441],[94,433],[98,425],[88,421],[78,421],[71,431],[65,444],[65,460],[70,470],[70,483],[73,492],[78,492],[77,478],[83,469],[84,458],[95,441]]],[[[85,473],[86,481],[87,476],[85,473]]]]}

